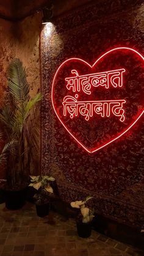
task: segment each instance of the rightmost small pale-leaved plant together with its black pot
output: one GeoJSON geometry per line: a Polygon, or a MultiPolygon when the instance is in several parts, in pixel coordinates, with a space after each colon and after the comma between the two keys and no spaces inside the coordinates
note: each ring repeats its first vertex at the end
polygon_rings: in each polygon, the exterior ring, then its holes
{"type": "Polygon", "coordinates": [[[85,203],[92,198],[92,196],[87,196],[82,201],[71,202],[71,207],[80,209],[80,212],[77,214],[76,218],[76,226],[77,233],[82,238],[88,238],[92,232],[91,222],[94,217],[93,210],[85,207],[85,203]]]}

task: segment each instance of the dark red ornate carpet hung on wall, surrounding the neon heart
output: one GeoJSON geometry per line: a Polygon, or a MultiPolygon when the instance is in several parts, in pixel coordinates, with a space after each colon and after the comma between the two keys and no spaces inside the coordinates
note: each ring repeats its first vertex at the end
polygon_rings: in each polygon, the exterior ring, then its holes
{"type": "MultiPolygon", "coordinates": [[[[105,51],[117,46],[133,47],[142,53],[142,5],[137,1],[137,5],[132,7],[131,2],[134,1],[97,1],[43,27],[40,43],[43,93],[41,173],[56,178],[63,200],[71,202],[92,195],[96,213],[142,227],[142,119],[123,138],[89,154],[77,146],[63,128],[51,103],[52,79],[64,60],[78,57],[92,64],[105,51]]],[[[130,86],[137,86],[137,81],[131,81],[130,86]]],[[[136,89],[134,94],[137,94],[136,89]]],[[[98,136],[101,136],[101,132],[98,136]]]]}

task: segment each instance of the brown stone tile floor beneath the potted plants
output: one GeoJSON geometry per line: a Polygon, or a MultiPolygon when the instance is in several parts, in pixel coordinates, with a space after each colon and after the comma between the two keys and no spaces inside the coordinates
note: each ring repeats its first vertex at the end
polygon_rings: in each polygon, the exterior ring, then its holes
{"type": "Polygon", "coordinates": [[[100,256],[144,255],[144,252],[92,231],[90,238],[79,238],[74,219],[66,221],[50,211],[39,218],[35,205],[17,211],[0,205],[0,255],[3,256],[100,256]]]}

